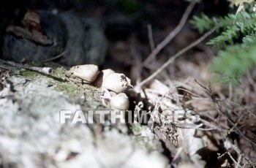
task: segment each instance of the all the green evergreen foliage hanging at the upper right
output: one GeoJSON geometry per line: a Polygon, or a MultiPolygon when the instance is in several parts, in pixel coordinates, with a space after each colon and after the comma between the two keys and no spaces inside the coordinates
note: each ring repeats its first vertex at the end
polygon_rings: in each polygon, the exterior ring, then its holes
{"type": "Polygon", "coordinates": [[[256,65],[256,6],[250,0],[232,0],[232,3],[238,7],[236,15],[208,18],[201,14],[190,20],[190,23],[200,33],[211,28],[219,33],[206,43],[219,50],[211,70],[217,72],[223,82],[237,85],[246,71],[256,65]]]}

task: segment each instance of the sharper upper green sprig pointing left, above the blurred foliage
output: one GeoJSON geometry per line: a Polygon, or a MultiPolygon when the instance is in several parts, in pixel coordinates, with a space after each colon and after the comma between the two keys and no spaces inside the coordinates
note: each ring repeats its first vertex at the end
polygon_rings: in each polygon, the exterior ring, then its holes
{"type": "Polygon", "coordinates": [[[201,14],[200,18],[195,16],[190,23],[200,33],[213,27],[217,32],[222,31],[222,34],[207,43],[217,48],[233,45],[239,37],[256,32],[256,15],[248,12],[239,12],[238,15],[229,14],[219,18],[208,18],[205,14],[201,14]]]}

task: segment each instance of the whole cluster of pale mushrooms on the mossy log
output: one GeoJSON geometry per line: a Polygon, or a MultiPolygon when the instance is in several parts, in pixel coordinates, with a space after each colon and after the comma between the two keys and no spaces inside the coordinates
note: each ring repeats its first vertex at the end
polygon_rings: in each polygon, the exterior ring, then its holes
{"type": "Polygon", "coordinates": [[[105,69],[99,72],[94,64],[72,66],[66,73],[69,80],[76,83],[87,83],[102,88],[102,100],[108,102],[112,110],[128,110],[129,99],[124,93],[132,88],[131,80],[124,74],[105,69]]]}

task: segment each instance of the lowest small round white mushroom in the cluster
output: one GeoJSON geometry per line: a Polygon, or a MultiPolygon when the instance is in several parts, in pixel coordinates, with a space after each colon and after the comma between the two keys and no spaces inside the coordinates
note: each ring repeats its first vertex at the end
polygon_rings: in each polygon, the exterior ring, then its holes
{"type": "Polygon", "coordinates": [[[125,93],[118,93],[112,96],[110,100],[110,107],[113,110],[128,110],[129,109],[129,99],[125,93]]]}

